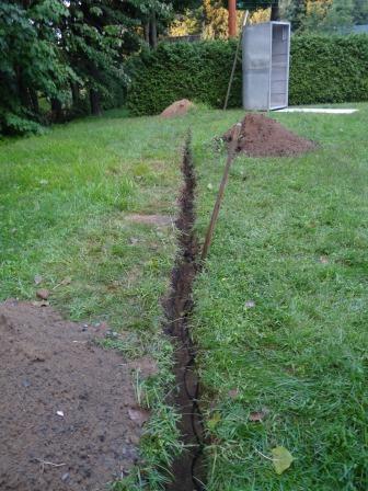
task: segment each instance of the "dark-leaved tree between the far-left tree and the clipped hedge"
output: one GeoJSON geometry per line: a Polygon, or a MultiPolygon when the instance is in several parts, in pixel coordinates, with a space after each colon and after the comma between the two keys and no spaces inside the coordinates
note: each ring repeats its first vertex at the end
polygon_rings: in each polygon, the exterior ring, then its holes
{"type": "Polygon", "coordinates": [[[139,48],[139,15],[134,4],[120,0],[70,0],[68,11],[59,25],[59,44],[78,76],[71,83],[73,102],[83,88],[91,113],[100,115],[103,102],[112,105],[117,98],[125,56],[139,48]]]}

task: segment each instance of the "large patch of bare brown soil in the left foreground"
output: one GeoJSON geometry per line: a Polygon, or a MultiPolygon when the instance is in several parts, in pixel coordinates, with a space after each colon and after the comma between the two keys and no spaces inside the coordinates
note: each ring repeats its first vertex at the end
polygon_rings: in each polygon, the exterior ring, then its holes
{"type": "Polygon", "coordinates": [[[1,491],[100,491],[137,459],[143,412],[103,329],[0,304],[1,491]]]}

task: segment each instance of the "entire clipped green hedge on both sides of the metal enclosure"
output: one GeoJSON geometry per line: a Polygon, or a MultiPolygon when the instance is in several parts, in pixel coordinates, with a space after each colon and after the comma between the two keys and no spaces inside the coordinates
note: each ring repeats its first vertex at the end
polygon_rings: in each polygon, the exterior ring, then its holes
{"type": "MultiPolygon", "coordinates": [[[[235,43],[162,43],[126,66],[131,78],[127,103],[135,114],[157,114],[179,99],[221,107],[235,43]]],[[[294,36],[290,104],[368,100],[368,35],[294,36]]],[[[238,62],[230,107],[241,106],[238,62]]]]}

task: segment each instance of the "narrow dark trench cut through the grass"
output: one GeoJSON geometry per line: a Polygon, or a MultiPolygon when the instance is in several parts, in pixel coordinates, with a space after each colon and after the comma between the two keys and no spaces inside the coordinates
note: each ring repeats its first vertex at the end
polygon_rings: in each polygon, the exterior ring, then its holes
{"type": "Polygon", "coordinates": [[[173,482],[168,491],[204,491],[206,468],[204,465],[204,426],[199,409],[200,386],[195,370],[195,346],[189,332],[193,310],[192,290],[199,271],[199,243],[193,230],[195,222],[196,178],[193,165],[191,135],[187,136],[182,173],[184,186],[180,198],[179,252],[172,270],[171,290],[164,301],[164,331],[175,347],[176,391],[172,401],[181,412],[179,430],[185,445],[184,453],[172,466],[173,482]]]}

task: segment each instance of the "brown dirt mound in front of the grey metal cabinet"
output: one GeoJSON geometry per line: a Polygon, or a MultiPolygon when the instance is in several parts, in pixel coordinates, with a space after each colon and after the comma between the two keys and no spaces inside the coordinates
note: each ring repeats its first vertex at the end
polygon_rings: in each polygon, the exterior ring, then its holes
{"type": "MultiPolygon", "coordinates": [[[[315,148],[313,141],[295,135],[263,114],[246,114],[241,124],[237,150],[250,157],[298,156],[315,148]]],[[[231,139],[231,129],[223,135],[226,141],[231,139]]]]}

